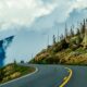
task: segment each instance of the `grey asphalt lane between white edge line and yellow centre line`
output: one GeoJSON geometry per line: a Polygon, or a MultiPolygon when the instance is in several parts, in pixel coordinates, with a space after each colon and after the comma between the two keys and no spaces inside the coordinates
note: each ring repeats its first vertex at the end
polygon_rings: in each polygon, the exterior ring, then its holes
{"type": "Polygon", "coordinates": [[[58,65],[28,65],[38,69],[33,75],[27,75],[0,87],[59,87],[63,78],[67,75],[64,66],[58,65]]]}

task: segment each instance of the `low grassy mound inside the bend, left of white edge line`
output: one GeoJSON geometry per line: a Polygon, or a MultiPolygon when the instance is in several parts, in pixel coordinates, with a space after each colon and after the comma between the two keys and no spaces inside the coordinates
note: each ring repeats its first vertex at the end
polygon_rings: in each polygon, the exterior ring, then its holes
{"type": "Polygon", "coordinates": [[[33,73],[34,71],[35,71],[34,67],[21,66],[17,65],[16,63],[5,65],[4,67],[0,69],[0,84],[33,73]]]}

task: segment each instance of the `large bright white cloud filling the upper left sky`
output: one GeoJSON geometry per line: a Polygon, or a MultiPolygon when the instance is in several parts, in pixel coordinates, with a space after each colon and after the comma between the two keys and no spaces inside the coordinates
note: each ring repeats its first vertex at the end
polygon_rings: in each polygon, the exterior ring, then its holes
{"type": "Polygon", "coordinates": [[[0,0],[0,23],[29,24],[35,17],[49,14],[54,7],[44,5],[40,0],[0,0]]]}

